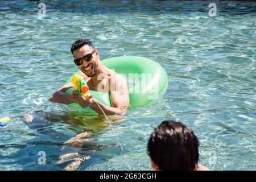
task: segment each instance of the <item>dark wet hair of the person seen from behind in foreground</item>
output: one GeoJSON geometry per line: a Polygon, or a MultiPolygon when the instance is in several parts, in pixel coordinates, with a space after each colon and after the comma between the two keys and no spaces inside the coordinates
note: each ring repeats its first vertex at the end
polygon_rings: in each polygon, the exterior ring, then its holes
{"type": "Polygon", "coordinates": [[[192,171],[199,160],[199,140],[180,122],[163,121],[150,135],[147,152],[160,170],[192,171]]]}

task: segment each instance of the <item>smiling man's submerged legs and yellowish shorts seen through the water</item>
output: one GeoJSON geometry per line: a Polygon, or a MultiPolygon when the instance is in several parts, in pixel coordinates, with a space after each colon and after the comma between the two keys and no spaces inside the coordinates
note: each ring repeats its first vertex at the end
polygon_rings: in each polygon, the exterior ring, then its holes
{"type": "MultiPolygon", "coordinates": [[[[118,147],[119,144],[98,144],[93,143],[94,136],[102,129],[108,127],[108,122],[105,121],[105,117],[102,115],[88,116],[82,113],[47,113],[45,111],[36,111],[32,114],[25,114],[23,116],[24,122],[31,129],[36,129],[39,134],[49,135],[54,139],[61,139],[65,142],[61,147],[61,155],[56,164],[63,164],[67,162],[65,170],[76,170],[80,167],[80,164],[84,160],[89,160],[90,156],[96,151],[104,150],[108,147],[118,147]],[[75,135],[70,139],[68,135],[60,133],[51,129],[55,122],[65,122],[70,124],[66,126],[67,129],[77,130],[78,126],[84,127],[84,132],[75,135]]],[[[112,116],[109,117],[112,122],[122,122],[123,117],[112,116]]]]}

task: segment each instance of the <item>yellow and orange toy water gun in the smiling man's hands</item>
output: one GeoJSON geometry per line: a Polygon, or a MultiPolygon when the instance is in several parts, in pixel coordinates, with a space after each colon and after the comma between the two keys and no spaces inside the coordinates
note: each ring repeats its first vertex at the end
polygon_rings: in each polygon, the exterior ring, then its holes
{"type": "Polygon", "coordinates": [[[87,94],[89,91],[89,86],[86,84],[84,78],[81,75],[73,75],[72,80],[76,91],[79,93],[79,96],[83,96],[84,98],[90,98],[87,94]]]}

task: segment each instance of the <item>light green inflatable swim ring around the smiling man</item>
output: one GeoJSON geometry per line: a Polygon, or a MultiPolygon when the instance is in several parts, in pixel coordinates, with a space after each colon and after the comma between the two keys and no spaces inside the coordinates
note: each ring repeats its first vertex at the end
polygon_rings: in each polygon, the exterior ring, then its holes
{"type": "MultiPolygon", "coordinates": [[[[130,107],[141,107],[150,104],[162,96],[168,86],[168,76],[164,68],[153,60],[138,56],[120,56],[102,60],[109,69],[126,76],[129,89],[130,107]]],[[[80,73],[76,72],[75,74],[80,73]]],[[[73,76],[73,75],[72,75],[73,76]]],[[[65,82],[72,81],[72,76],[65,82]]],[[[75,88],[68,89],[65,93],[72,93],[75,88]]],[[[93,97],[105,105],[111,106],[110,93],[89,90],[93,97]]],[[[89,107],[82,108],[77,103],[69,106],[91,111],[89,107]]]]}

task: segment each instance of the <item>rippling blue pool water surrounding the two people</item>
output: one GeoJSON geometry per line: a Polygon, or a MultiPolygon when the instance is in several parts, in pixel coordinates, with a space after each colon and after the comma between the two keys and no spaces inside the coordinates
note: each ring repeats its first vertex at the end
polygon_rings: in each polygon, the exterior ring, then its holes
{"type": "Polygon", "coordinates": [[[147,139],[164,119],[195,131],[205,166],[255,170],[256,4],[216,2],[209,17],[210,2],[44,1],[39,17],[36,1],[0,1],[0,117],[12,117],[0,127],[0,170],[150,170],[147,139]],[[169,77],[162,100],[110,118],[113,130],[104,117],[49,102],[77,71],[69,48],[78,38],[92,39],[101,60],[157,61],[169,77]],[[88,130],[83,148],[63,145],[88,130]]]}

